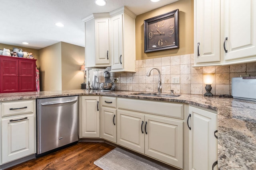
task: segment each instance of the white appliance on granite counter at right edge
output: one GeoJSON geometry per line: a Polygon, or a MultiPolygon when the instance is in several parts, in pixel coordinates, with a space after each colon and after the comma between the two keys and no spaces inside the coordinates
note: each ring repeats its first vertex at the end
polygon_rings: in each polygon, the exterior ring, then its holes
{"type": "Polygon", "coordinates": [[[256,101],[256,77],[232,78],[232,96],[236,99],[256,101]]]}

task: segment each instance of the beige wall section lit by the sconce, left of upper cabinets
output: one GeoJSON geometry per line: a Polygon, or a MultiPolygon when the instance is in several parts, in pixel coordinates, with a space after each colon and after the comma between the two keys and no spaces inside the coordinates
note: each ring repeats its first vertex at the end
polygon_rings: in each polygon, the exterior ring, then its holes
{"type": "Polygon", "coordinates": [[[61,43],[62,90],[80,89],[84,82],[84,47],[61,43]]]}

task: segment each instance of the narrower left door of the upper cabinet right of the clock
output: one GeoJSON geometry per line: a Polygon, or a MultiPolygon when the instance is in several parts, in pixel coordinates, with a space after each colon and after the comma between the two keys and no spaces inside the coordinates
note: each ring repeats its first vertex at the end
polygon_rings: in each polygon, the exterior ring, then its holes
{"type": "Polygon", "coordinates": [[[194,0],[195,63],[220,61],[220,0],[194,0]]]}

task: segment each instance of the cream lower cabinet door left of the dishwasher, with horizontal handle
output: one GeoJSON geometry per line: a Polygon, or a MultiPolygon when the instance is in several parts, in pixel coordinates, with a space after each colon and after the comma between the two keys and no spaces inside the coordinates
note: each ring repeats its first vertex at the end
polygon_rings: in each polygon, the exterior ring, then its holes
{"type": "Polygon", "coordinates": [[[34,115],[2,119],[2,163],[35,153],[34,115]]]}

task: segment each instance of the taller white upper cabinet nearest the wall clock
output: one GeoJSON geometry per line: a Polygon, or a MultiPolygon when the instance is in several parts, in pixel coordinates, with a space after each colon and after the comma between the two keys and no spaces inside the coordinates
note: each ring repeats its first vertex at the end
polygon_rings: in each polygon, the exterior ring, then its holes
{"type": "Polygon", "coordinates": [[[110,13],[111,71],[135,72],[135,18],[126,7],[110,13]]]}

